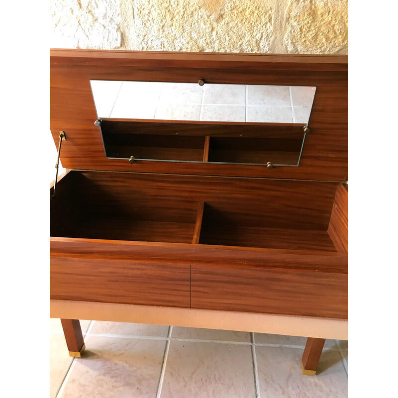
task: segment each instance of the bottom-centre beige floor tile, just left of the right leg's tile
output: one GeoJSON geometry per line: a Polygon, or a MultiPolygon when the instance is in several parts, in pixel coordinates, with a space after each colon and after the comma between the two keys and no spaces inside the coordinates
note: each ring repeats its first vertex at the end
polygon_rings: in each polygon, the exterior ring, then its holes
{"type": "Polygon", "coordinates": [[[161,398],[254,398],[251,345],[171,341],[161,398]]]}

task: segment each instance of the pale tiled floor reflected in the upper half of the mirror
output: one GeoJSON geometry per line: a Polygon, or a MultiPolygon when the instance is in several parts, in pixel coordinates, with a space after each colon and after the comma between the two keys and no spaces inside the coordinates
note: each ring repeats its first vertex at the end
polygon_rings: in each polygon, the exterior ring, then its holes
{"type": "Polygon", "coordinates": [[[91,81],[99,117],[307,123],[315,87],[91,81]]]}

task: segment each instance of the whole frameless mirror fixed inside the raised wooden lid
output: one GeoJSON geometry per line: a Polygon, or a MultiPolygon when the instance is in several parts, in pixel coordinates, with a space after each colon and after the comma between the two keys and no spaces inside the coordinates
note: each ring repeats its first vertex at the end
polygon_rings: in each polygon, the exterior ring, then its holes
{"type": "Polygon", "coordinates": [[[315,87],[91,81],[105,156],[298,166],[315,87]]]}

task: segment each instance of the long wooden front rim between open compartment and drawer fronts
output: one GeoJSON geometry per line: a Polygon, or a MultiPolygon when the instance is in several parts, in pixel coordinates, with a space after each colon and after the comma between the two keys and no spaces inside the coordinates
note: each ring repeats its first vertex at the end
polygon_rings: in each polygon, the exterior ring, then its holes
{"type": "Polygon", "coordinates": [[[145,259],[151,263],[173,260],[177,264],[348,274],[346,253],[314,250],[53,237],[50,256],[115,261],[145,259]]]}

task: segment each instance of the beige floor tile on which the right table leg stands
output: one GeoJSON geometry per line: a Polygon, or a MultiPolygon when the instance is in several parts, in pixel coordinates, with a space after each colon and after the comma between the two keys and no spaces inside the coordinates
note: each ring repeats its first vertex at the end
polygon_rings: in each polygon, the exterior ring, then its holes
{"type": "Polygon", "coordinates": [[[303,376],[302,350],[256,346],[261,398],[348,397],[348,378],[338,351],[322,352],[316,376],[303,376]]]}

